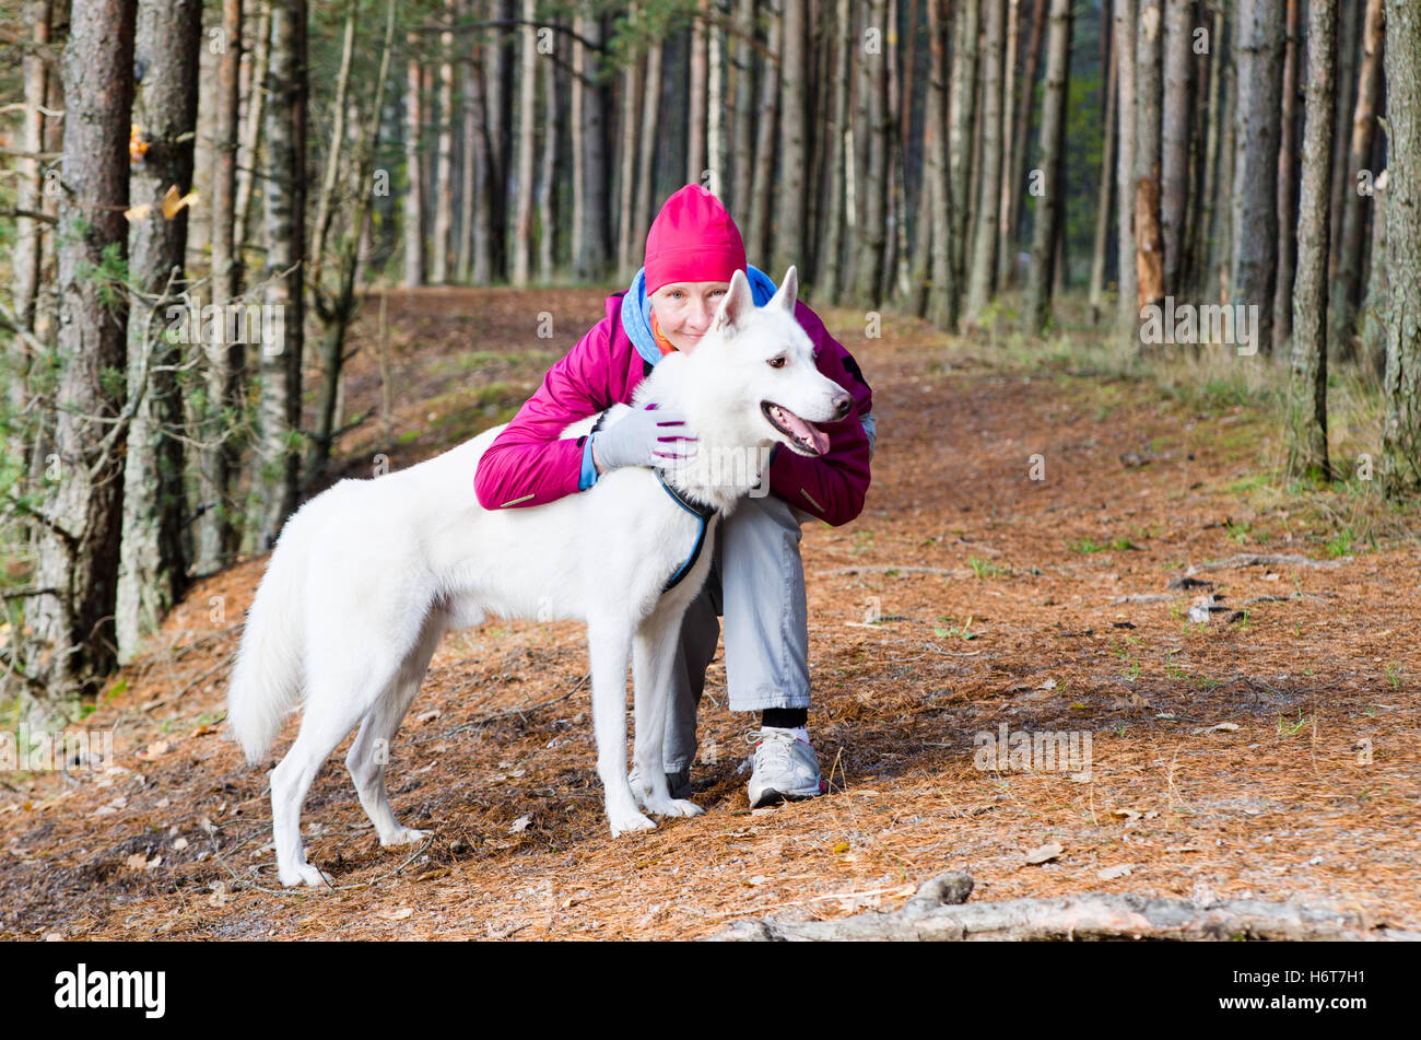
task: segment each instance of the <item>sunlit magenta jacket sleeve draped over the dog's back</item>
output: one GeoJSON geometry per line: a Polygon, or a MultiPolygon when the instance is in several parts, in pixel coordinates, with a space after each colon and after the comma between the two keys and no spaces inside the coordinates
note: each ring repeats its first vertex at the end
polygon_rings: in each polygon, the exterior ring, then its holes
{"type": "Polygon", "coordinates": [[[561,439],[578,419],[611,406],[611,318],[603,318],[543,377],[513,422],[489,445],[473,475],[485,509],[543,506],[578,489],[583,442],[561,439]]]}

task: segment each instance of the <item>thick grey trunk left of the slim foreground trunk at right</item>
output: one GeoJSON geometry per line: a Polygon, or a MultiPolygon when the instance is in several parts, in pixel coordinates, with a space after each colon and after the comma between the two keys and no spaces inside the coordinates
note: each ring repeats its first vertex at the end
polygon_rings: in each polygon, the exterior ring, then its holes
{"type": "Polygon", "coordinates": [[[1229,301],[1258,307],[1255,344],[1273,345],[1277,274],[1277,136],[1283,80],[1283,7],[1277,0],[1238,6],[1238,109],[1233,141],[1233,256],[1229,301]]]}

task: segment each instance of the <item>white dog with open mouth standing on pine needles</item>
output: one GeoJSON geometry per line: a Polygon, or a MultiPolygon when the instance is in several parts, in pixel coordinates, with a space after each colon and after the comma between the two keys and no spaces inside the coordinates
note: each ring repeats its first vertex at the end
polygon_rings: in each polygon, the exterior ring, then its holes
{"type": "MultiPolygon", "coordinates": [[[[762,401],[809,422],[840,419],[851,406],[845,391],[814,367],[813,345],[794,320],[797,291],[790,267],[774,298],[756,308],[736,271],[693,352],[664,358],[637,391],[638,405],[655,401],[685,413],[701,438],[699,452],[689,465],[664,470],[665,477],[720,516],[760,480],[760,462],[776,442],[813,453],[769,422],[762,401]],[[784,362],[773,367],[779,358],[784,362]],[[725,465],[746,453],[753,465],[725,465]]],[[[627,411],[617,405],[607,422],[627,411]]],[[[593,422],[577,422],[563,436],[587,433],[593,422]]],[[[247,615],[227,720],[254,764],[304,689],[300,733],[271,773],[283,885],[325,881],[306,860],[300,813],[315,773],[357,723],[345,764],[379,843],[425,835],[391,811],[388,749],[441,637],[487,614],[587,621],[597,773],[612,834],[655,827],[638,804],[657,816],[702,811],[671,797],[662,735],[681,619],[705,583],[719,517],[708,523],[695,567],[662,594],[699,521],[672,502],[655,473],[618,469],[546,506],[485,510],[473,473],[500,429],[404,472],[342,480],[306,503],[281,531],[247,615]],[[628,651],[637,791],[627,777],[628,651]]]]}

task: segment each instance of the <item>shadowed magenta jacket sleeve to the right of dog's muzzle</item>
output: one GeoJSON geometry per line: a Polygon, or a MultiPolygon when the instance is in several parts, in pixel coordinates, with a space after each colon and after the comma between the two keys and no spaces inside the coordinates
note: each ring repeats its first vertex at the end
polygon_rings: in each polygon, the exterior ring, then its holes
{"type": "Polygon", "coordinates": [[[848,391],[854,411],[840,422],[823,423],[828,452],[817,459],[777,448],[770,459],[770,490],[838,527],[863,511],[868,494],[870,445],[861,416],[872,411],[872,391],[858,362],[828,334],[814,311],[800,304],[794,317],[814,341],[818,371],[848,391]]]}

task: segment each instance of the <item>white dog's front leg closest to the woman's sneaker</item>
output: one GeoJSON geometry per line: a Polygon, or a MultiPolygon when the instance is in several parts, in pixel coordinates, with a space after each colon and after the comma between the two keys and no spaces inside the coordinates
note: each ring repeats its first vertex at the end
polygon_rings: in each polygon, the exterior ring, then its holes
{"type": "Polygon", "coordinates": [[[657,816],[699,816],[705,811],[693,801],[671,797],[664,767],[671,669],[684,614],[658,607],[641,622],[632,641],[632,705],[637,717],[632,746],[639,787],[632,794],[648,813],[657,816]]]}

